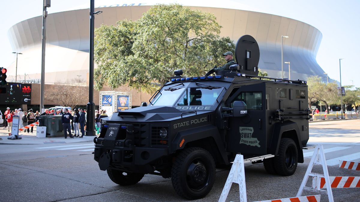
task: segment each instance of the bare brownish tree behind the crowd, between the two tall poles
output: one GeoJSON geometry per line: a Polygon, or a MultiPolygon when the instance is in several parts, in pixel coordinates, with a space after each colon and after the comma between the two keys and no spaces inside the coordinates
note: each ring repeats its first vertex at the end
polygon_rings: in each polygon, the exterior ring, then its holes
{"type": "Polygon", "coordinates": [[[78,79],[73,79],[66,83],[55,83],[54,85],[50,85],[50,87],[46,89],[45,100],[73,109],[80,102],[89,98],[89,88],[86,86],[79,86],[79,83],[76,82],[77,80],[78,79]],[[74,88],[77,89],[76,93],[73,91],[74,88]]]}

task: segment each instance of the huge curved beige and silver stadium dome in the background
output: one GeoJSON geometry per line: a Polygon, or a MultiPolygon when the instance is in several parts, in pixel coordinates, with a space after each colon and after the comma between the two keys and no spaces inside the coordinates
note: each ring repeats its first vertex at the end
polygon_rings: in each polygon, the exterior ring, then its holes
{"type": "MultiPolygon", "coordinates": [[[[116,24],[123,19],[137,20],[152,5],[168,3],[161,0],[147,3],[118,2],[108,0],[95,3],[95,11],[103,11],[95,17],[95,28],[101,24],[116,24]]],[[[246,5],[233,1],[229,1],[229,4],[224,1],[203,4],[189,0],[179,3],[214,14],[222,26],[220,36],[228,36],[234,43],[242,35],[253,36],[260,47],[258,66],[269,77],[281,78],[283,35],[289,36],[284,38],[283,56],[284,62],[291,62],[291,79],[306,80],[311,75],[324,78],[324,71],[315,59],[322,34],[315,27],[295,19],[247,11],[246,5]]],[[[45,83],[64,82],[66,79],[78,78],[79,75],[82,75],[82,79],[88,79],[89,5],[72,9],[74,10],[49,14],[46,18],[45,83]]],[[[41,78],[41,27],[42,17],[39,16],[15,24],[8,32],[13,50],[23,53],[18,74],[26,74],[30,79],[41,78]]],[[[15,61],[8,67],[8,79],[15,75],[14,67],[15,61]]],[[[288,65],[284,64],[284,77],[287,78],[287,75],[288,65]]]]}

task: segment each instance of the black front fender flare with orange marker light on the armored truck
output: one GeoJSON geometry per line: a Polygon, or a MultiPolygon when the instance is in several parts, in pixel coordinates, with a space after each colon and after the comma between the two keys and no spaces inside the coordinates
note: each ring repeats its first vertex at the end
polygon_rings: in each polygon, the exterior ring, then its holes
{"type": "MultiPolygon", "coordinates": [[[[219,130],[214,125],[205,125],[197,128],[190,128],[188,130],[179,131],[171,143],[171,153],[176,150],[183,149],[187,143],[211,137],[214,139],[217,151],[219,151],[222,160],[229,162],[225,148],[222,145],[219,130]]],[[[214,148],[215,149],[215,148],[214,148]]]]}

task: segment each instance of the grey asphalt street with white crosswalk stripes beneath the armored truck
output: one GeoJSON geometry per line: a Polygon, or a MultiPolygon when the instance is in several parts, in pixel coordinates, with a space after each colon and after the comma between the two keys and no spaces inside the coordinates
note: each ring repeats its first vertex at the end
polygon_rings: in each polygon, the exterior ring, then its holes
{"type": "MultiPolygon", "coordinates": [[[[330,176],[360,176],[360,171],[338,164],[339,160],[360,161],[360,119],[312,122],[309,132],[309,144],[324,147],[330,176]]],[[[0,201],[186,201],[175,193],[171,180],[161,176],[145,175],[131,186],[113,183],[93,160],[93,148],[92,138],[38,144],[0,141],[0,201]]],[[[305,162],[288,177],[267,174],[262,164],[245,164],[248,201],[296,196],[313,151],[303,151],[305,162]]],[[[315,166],[313,171],[322,173],[322,168],[315,166]]],[[[229,170],[218,169],[211,192],[197,201],[218,201],[228,174],[229,170]]],[[[332,192],[335,201],[360,198],[359,188],[332,192]]],[[[304,191],[302,196],[313,194],[304,191]]],[[[237,184],[232,185],[226,201],[239,201],[237,184]]],[[[321,194],[321,201],[328,201],[326,194],[321,194]]]]}

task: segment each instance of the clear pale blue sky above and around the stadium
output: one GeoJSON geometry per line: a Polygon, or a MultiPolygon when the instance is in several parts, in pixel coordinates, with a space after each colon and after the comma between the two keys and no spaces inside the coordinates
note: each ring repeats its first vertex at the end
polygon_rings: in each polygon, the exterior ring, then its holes
{"type": "MultiPolygon", "coordinates": [[[[112,0],[117,4],[144,3],[154,0],[112,0]]],[[[15,54],[9,43],[8,30],[14,24],[32,17],[42,15],[43,0],[18,0],[0,2],[0,67],[7,67],[15,61],[15,54]]],[[[108,0],[95,0],[95,7],[107,5],[108,0]]],[[[158,0],[159,3],[168,1],[158,0]]],[[[181,4],[181,0],[178,3],[181,4]]],[[[318,64],[328,73],[329,77],[340,81],[339,58],[341,61],[342,85],[360,87],[360,0],[223,0],[225,8],[237,5],[236,9],[251,10],[288,17],[305,22],[319,29],[323,34],[319,51],[316,56],[318,64]]],[[[217,4],[219,4],[217,3],[217,4]]],[[[85,8],[90,0],[51,0],[49,13],[62,12],[76,8],[85,8]],[[79,7],[80,6],[80,7],[79,7]]],[[[209,1],[198,0],[197,5],[208,6],[209,1]]],[[[19,64],[21,55],[19,55],[19,64]]],[[[323,76],[323,75],[320,75],[323,76]]]]}

